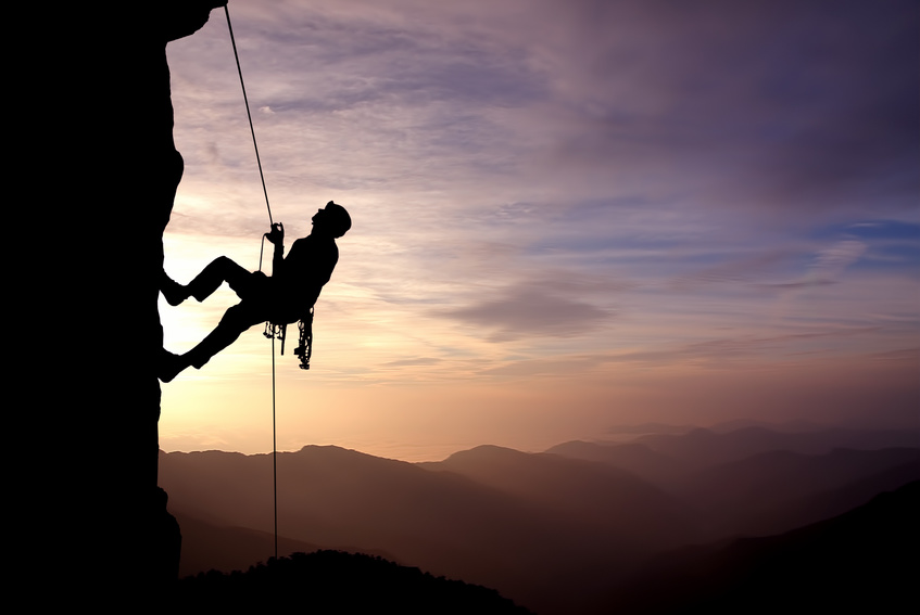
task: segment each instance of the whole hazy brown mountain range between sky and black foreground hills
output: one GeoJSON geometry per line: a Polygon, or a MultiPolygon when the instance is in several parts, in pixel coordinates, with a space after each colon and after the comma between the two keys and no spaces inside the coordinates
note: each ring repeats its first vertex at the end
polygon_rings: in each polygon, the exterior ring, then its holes
{"type": "MultiPolygon", "coordinates": [[[[920,447],[900,446],[904,433],[763,432],[545,453],[482,446],[415,464],[306,446],[278,456],[280,553],[370,553],[494,588],[537,613],[600,613],[663,553],[789,533],[920,479],[920,447]]],[[[268,454],[161,453],[184,528],[181,574],[267,558],[270,465],[268,454]]]]}

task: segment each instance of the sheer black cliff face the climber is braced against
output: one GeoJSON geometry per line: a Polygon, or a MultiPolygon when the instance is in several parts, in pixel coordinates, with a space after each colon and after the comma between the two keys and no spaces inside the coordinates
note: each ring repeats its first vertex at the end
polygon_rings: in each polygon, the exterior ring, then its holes
{"type": "Polygon", "coordinates": [[[53,553],[70,603],[156,597],[175,578],[178,525],[156,486],[162,236],[182,172],[166,43],[222,3],[73,2],[11,17],[28,29],[11,78],[22,104],[7,107],[25,189],[14,316],[53,328],[13,370],[31,393],[20,447],[40,458],[17,495],[29,552],[53,553]]]}

